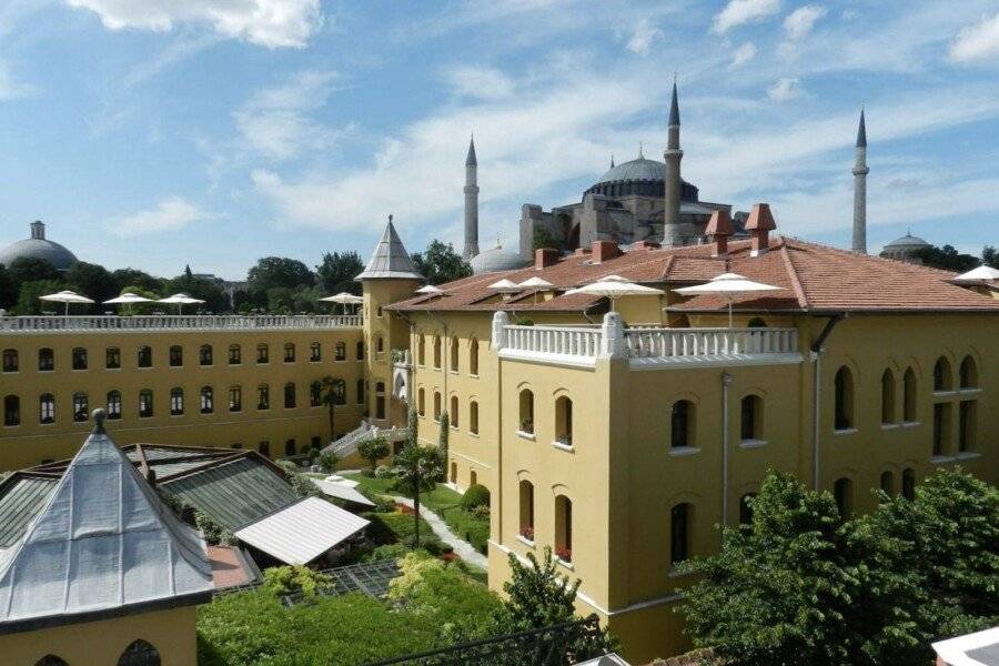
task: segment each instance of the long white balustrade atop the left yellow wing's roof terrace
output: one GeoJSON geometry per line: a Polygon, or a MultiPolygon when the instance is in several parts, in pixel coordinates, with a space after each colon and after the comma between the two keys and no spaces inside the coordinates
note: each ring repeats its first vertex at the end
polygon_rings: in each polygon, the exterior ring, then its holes
{"type": "Polygon", "coordinates": [[[260,330],[315,330],[360,329],[357,314],[264,314],[243,316],[235,314],[154,314],[135,316],[2,316],[0,334],[67,332],[90,333],[102,331],[260,331],[260,330]]]}

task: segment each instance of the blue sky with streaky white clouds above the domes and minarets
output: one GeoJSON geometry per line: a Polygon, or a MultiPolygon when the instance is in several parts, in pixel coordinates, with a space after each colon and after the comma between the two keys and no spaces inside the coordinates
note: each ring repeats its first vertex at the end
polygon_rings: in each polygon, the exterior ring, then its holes
{"type": "Polygon", "coordinates": [[[483,249],[521,205],[662,159],[849,246],[999,242],[999,0],[0,0],[0,246],[30,221],[83,261],[242,279],[256,259],[461,249],[474,132],[483,249]]]}

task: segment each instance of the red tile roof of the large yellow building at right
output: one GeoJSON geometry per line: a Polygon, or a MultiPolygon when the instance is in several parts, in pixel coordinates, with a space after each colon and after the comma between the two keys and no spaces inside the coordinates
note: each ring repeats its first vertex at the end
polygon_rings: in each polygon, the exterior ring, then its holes
{"type": "MultiPolygon", "coordinates": [[[[523,282],[532,276],[547,280],[558,291],[594,282],[610,274],[652,285],[685,285],[707,282],[725,272],[783,287],[784,291],[737,300],[741,311],[910,311],[999,313],[999,301],[948,282],[953,273],[926,266],[857,254],[805,241],[774,238],[769,252],[751,256],[750,241],[728,245],[728,258],[713,258],[712,245],[685,248],[635,248],[594,263],[589,253],[562,258],[544,269],[533,265],[514,271],[473,275],[438,285],[443,295],[400,301],[389,306],[403,312],[495,311],[578,312],[605,302],[586,295],[557,295],[535,303],[534,291],[498,301],[488,285],[504,278],[523,282]]],[[[551,291],[551,290],[549,290],[551,291]]],[[[719,296],[695,296],[673,307],[715,311],[726,306],[719,296]]]]}

